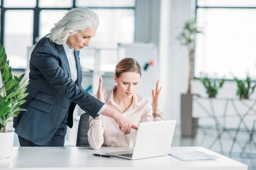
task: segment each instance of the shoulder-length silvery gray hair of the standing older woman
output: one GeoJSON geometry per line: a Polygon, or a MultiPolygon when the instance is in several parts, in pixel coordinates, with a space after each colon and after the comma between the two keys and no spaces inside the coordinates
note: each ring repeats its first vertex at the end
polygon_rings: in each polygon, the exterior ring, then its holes
{"type": "Polygon", "coordinates": [[[73,8],[55,23],[47,36],[56,44],[65,44],[69,36],[88,28],[98,28],[99,17],[89,8],[73,8]],[[70,34],[71,33],[71,34],[70,34]]]}

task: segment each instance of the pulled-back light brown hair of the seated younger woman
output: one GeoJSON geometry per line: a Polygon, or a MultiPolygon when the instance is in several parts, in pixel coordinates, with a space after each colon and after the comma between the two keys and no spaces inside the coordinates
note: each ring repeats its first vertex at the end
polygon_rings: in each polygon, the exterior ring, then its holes
{"type": "Polygon", "coordinates": [[[141,76],[140,64],[134,58],[121,59],[116,65],[116,77],[119,78],[122,73],[125,72],[136,72],[141,76]]]}

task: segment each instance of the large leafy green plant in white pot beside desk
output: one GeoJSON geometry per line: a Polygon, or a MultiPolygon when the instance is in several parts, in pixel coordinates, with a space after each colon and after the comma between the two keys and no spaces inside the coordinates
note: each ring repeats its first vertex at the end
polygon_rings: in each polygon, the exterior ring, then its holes
{"type": "Polygon", "coordinates": [[[28,93],[26,92],[26,79],[22,81],[25,74],[20,77],[12,74],[12,68],[9,66],[9,60],[3,45],[0,45],[0,70],[3,86],[0,88],[0,160],[7,159],[12,151],[14,132],[6,130],[8,122],[12,117],[17,116],[20,111],[26,111],[20,108],[26,100],[23,100],[28,93]]]}

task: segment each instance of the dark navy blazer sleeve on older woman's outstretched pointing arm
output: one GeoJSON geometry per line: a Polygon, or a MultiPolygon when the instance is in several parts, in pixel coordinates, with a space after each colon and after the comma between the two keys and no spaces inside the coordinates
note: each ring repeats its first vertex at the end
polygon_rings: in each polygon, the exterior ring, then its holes
{"type": "Polygon", "coordinates": [[[30,59],[30,65],[38,69],[56,90],[71,102],[78,104],[82,110],[89,113],[93,118],[97,117],[97,113],[104,103],[79,88],[60,67],[60,62],[57,51],[46,45],[42,45],[36,51],[33,51],[30,59]]]}

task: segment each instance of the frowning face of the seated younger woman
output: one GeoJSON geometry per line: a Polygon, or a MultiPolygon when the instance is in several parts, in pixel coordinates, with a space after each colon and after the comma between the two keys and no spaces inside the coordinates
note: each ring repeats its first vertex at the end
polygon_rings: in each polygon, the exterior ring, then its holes
{"type": "Polygon", "coordinates": [[[140,74],[136,72],[125,72],[119,78],[114,74],[114,81],[117,84],[117,91],[124,98],[130,99],[139,87],[140,74]]]}

